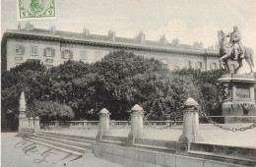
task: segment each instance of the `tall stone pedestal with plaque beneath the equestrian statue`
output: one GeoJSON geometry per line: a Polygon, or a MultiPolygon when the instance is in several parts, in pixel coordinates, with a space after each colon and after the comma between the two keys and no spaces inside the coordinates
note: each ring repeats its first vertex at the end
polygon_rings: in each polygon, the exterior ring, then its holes
{"type": "Polygon", "coordinates": [[[219,79],[228,84],[229,99],[222,105],[224,123],[256,122],[254,83],[251,75],[228,74],[219,79]]]}

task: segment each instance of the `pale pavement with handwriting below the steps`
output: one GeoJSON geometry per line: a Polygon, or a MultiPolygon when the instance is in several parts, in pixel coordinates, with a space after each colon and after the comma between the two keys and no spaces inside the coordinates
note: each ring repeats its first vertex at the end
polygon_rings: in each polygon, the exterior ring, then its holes
{"type": "Polygon", "coordinates": [[[121,167],[95,156],[69,156],[16,137],[17,133],[2,133],[2,167],[121,167]]]}

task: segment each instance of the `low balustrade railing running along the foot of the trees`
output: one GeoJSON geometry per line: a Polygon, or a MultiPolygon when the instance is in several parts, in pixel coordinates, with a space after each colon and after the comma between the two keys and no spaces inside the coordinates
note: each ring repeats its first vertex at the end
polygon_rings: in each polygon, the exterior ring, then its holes
{"type": "MultiPolygon", "coordinates": [[[[173,121],[149,121],[148,123],[154,127],[162,127],[170,125],[173,121]]],[[[175,125],[182,125],[182,121],[176,121],[175,125]]],[[[111,129],[128,129],[130,126],[130,121],[110,121],[111,129]]],[[[150,128],[146,122],[144,122],[144,126],[150,128]]],[[[42,129],[98,129],[99,121],[47,121],[40,122],[40,127],[42,129]]]]}

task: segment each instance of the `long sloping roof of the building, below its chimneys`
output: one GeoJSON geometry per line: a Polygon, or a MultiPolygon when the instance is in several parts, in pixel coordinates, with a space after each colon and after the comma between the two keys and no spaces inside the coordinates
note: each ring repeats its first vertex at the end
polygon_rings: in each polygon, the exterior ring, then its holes
{"type": "MultiPolygon", "coordinates": [[[[42,28],[32,28],[26,30],[26,28],[18,29],[7,29],[5,33],[8,33],[10,37],[22,37],[30,36],[36,39],[54,39],[63,42],[75,42],[80,44],[92,44],[101,45],[106,47],[118,47],[118,48],[130,48],[139,50],[152,50],[161,52],[174,52],[174,53],[187,53],[187,54],[197,54],[197,55],[208,55],[208,56],[218,56],[219,53],[209,49],[196,49],[188,44],[178,44],[166,42],[164,45],[159,41],[145,40],[145,43],[140,43],[136,38],[127,37],[115,37],[115,41],[112,41],[108,35],[99,34],[84,34],[80,32],[62,31],[55,30],[52,33],[50,29],[42,28]]],[[[5,36],[5,35],[4,35],[5,36]]],[[[4,37],[3,37],[4,38],[4,37]]]]}

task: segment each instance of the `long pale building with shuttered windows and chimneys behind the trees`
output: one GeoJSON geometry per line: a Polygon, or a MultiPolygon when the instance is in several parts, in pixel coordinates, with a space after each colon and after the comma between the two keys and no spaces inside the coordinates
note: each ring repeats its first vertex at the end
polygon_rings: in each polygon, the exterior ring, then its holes
{"type": "Polygon", "coordinates": [[[2,38],[2,71],[26,62],[40,60],[50,68],[65,61],[81,60],[92,63],[100,60],[109,51],[128,50],[135,54],[159,59],[170,70],[182,68],[200,68],[210,70],[219,68],[219,53],[213,49],[204,49],[203,44],[180,44],[173,39],[167,42],[164,35],[159,41],[146,40],[140,32],[134,38],[118,37],[115,32],[107,35],[91,34],[87,28],[81,33],[34,28],[30,23],[26,28],[7,29],[2,38]]]}

